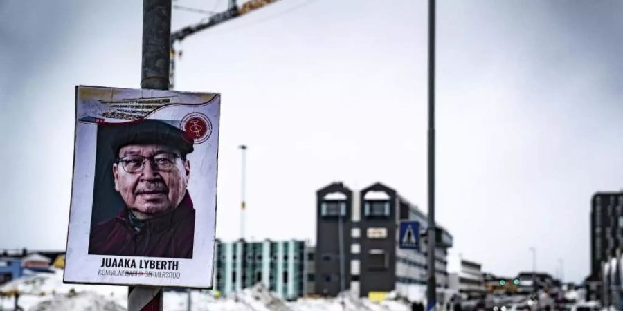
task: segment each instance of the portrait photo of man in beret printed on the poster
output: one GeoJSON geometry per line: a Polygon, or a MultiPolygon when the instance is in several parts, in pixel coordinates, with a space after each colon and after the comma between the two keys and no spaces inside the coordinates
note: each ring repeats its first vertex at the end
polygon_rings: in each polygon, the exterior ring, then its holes
{"type": "Polygon", "coordinates": [[[193,140],[163,120],[98,125],[89,254],[192,258],[193,140]]]}

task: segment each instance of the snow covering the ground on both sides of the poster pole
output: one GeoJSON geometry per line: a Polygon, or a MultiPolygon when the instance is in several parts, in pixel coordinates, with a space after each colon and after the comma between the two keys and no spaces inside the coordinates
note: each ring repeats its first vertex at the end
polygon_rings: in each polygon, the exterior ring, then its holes
{"type": "MultiPolygon", "coordinates": [[[[126,310],[127,287],[106,285],[64,284],[63,271],[33,273],[21,279],[0,285],[0,292],[19,292],[19,305],[24,310],[48,311],[120,311],[126,310]]],[[[215,298],[208,291],[193,290],[192,311],[408,311],[405,301],[388,300],[374,303],[368,299],[353,298],[348,294],[333,299],[303,298],[286,302],[264,286],[256,285],[236,294],[215,298]],[[344,308],[342,307],[344,303],[344,308]]],[[[12,310],[14,299],[0,297],[0,310],[12,310]]],[[[188,310],[188,292],[165,291],[163,310],[188,310]]]]}

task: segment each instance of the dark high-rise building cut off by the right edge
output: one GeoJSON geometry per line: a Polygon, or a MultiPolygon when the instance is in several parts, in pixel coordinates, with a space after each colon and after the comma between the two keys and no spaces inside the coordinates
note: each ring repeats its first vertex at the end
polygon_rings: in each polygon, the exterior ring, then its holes
{"type": "Polygon", "coordinates": [[[623,247],[623,191],[597,192],[590,209],[590,275],[587,299],[602,297],[602,265],[623,247]]]}

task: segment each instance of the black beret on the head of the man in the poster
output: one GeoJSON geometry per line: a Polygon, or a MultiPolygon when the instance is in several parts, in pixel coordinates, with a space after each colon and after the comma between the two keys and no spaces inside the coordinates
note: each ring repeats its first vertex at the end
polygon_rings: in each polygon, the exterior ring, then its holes
{"type": "Polygon", "coordinates": [[[119,156],[119,149],[129,144],[161,144],[178,149],[182,156],[191,153],[194,140],[185,131],[175,126],[153,119],[141,119],[127,123],[114,124],[114,138],[111,149],[119,156]]]}

